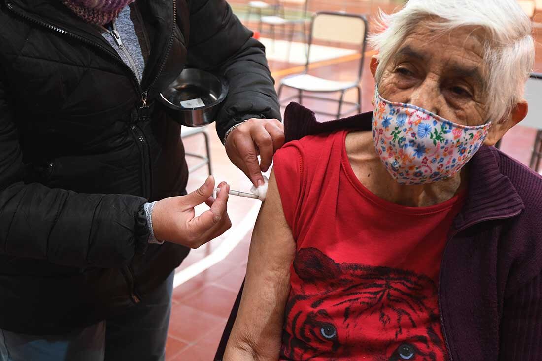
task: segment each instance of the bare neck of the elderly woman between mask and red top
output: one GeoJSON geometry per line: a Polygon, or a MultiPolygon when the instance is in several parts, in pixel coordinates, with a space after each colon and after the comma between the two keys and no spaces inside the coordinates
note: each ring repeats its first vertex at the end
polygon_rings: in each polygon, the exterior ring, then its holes
{"type": "Polygon", "coordinates": [[[346,137],[346,152],[359,181],[376,196],[408,207],[430,207],[453,198],[466,188],[464,167],[444,181],[401,185],[390,176],[375,151],[371,132],[351,132],[346,137]]]}

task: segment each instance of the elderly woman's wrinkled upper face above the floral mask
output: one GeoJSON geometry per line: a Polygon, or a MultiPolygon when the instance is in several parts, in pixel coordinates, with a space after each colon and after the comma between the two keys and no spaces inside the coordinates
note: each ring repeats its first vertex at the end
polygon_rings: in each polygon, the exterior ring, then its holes
{"type": "Polygon", "coordinates": [[[486,68],[481,30],[459,28],[436,36],[418,25],[384,69],[384,99],[425,108],[463,125],[486,123],[486,68]]]}

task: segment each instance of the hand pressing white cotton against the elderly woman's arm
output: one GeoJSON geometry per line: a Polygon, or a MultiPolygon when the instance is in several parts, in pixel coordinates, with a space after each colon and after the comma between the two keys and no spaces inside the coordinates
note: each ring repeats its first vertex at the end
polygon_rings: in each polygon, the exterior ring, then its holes
{"type": "Polygon", "coordinates": [[[255,186],[263,185],[261,172],[267,172],[273,154],[284,144],[284,128],[276,119],[249,119],[226,139],[226,153],[255,186]],[[258,163],[260,154],[261,164],[258,163]]]}

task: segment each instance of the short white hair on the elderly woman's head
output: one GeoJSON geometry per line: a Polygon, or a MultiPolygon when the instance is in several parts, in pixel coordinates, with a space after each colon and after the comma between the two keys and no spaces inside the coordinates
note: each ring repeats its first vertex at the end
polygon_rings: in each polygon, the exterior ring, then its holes
{"type": "Polygon", "coordinates": [[[534,63],[531,20],[517,0],[410,0],[395,14],[380,11],[379,30],[369,41],[378,51],[377,83],[411,31],[423,25],[438,31],[480,27],[487,65],[487,119],[499,121],[523,98],[534,63]]]}

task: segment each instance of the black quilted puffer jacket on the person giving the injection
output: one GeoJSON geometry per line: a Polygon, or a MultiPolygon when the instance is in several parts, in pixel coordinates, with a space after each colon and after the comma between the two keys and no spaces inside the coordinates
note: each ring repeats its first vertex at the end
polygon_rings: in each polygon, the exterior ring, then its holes
{"type": "Polygon", "coordinates": [[[185,65],[229,81],[221,138],[279,118],[264,49],[224,0],[136,4],[152,39],[141,86],[60,1],[0,0],[0,328],[60,333],[121,313],[188,254],[147,248],[141,212],[185,189],[180,126],[154,101],[185,65]]]}

